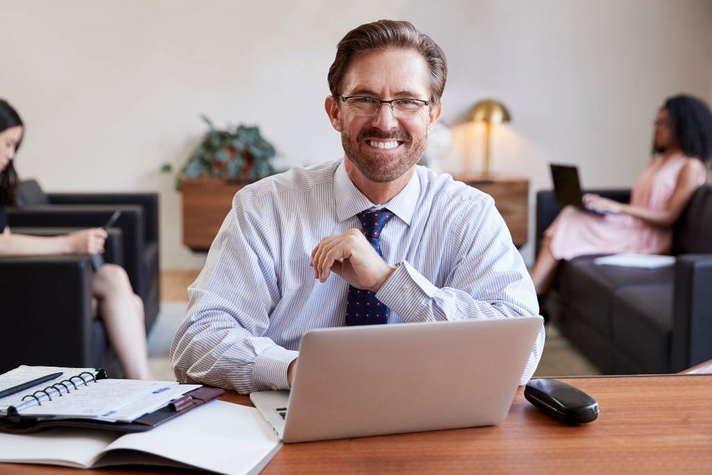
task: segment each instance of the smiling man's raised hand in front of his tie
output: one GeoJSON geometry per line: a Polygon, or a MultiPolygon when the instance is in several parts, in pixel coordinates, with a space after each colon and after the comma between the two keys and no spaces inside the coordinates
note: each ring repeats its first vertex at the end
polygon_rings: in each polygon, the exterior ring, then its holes
{"type": "Polygon", "coordinates": [[[355,288],[377,292],[395,271],[358,229],[322,239],[311,254],[314,278],[325,282],[334,271],[355,288]]]}

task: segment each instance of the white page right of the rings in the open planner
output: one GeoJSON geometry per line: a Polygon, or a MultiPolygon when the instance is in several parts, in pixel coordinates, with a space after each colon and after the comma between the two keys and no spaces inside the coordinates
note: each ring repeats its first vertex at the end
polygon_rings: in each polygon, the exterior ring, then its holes
{"type": "Polygon", "coordinates": [[[22,416],[99,418],[154,392],[178,385],[172,381],[99,380],[54,397],[42,405],[22,409],[22,416]]]}

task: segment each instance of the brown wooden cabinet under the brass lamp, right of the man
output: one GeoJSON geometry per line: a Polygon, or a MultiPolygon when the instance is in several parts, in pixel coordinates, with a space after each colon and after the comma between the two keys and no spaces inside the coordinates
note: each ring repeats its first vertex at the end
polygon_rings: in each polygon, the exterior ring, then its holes
{"type": "Polygon", "coordinates": [[[454,174],[453,178],[494,198],[515,246],[527,242],[529,224],[529,180],[507,174],[454,174]]]}

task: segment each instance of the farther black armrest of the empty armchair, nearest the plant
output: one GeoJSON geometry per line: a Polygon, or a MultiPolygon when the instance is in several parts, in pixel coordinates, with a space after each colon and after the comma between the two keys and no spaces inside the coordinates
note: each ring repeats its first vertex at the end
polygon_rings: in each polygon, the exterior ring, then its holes
{"type": "Polygon", "coordinates": [[[51,204],[138,204],[144,210],[145,239],[158,242],[157,193],[48,193],[51,204]]]}

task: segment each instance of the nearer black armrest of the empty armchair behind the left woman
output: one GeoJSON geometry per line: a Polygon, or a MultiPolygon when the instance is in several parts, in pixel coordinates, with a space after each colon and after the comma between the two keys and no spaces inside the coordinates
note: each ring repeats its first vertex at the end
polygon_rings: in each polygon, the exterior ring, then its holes
{"type": "Polygon", "coordinates": [[[104,224],[116,209],[121,211],[121,216],[112,227],[122,231],[123,267],[129,275],[135,293],[140,295],[145,280],[142,272],[145,241],[143,208],[139,205],[43,204],[6,208],[6,214],[11,229],[18,226],[88,228],[104,224]]]}

